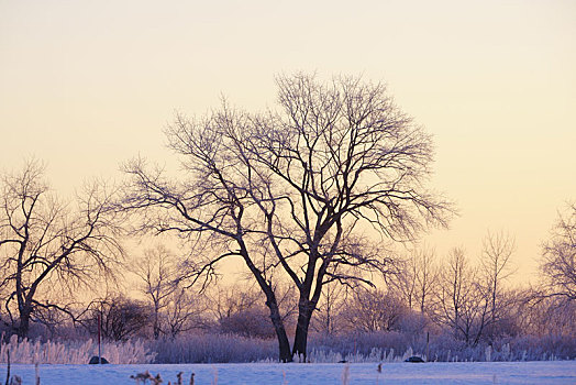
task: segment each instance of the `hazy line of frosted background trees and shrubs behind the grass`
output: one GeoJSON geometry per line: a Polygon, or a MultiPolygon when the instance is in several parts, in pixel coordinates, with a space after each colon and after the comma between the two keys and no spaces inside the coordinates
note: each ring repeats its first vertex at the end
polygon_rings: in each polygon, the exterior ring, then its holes
{"type": "MultiPolygon", "coordinates": [[[[575,217],[576,210],[568,207],[551,239],[543,243],[542,280],[535,286],[512,284],[513,239],[502,232],[488,233],[476,262],[462,248],[453,249],[445,257],[429,248],[416,249],[398,257],[396,270],[377,287],[326,285],[310,323],[311,332],[334,338],[397,332],[406,339],[428,332],[469,346],[496,345],[521,337],[574,339],[576,302],[569,296],[574,286],[566,285],[571,276],[558,279],[557,272],[566,271],[565,246],[574,238],[571,223],[575,217]],[[555,256],[560,258],[558,266],[550,274],[555,258],[551,249],[556,248],[562,253],[555,256]]],[[[33,315],[32,324],[36,328],[33,336],[45,333],[44,337],[56,339],[96,336],[100,318],[102,336],[114,341],[174,340],[190,333],[275,338],[265,299],[250,280],[234,287],[212,285],[199,293],[198,288],[184,286],[179,279],[181,273],[175,268],[177,263],[178,258],[162,244],[145,250],[131,261],[129,268],[136,274],[133,285],[141,292],[141,299],[113,292],[85,307],[79,301],[59,301],[64,298],[47,299],[46,304],[55,306],[42,307],[42,311],[33,315]]],[[[46,294],[51,292],[40,293],[38,298],[46,294]]],[[[296,290],[289,285],[278,285],[275,294],[287,329],[295,328],[296,290]]],[[[4,304],[9,304],[9,297],[3,296],[4,304]]],[[[2,321],[9,333],[19,332],[18,314],[11,316],[4,310],[2,321]]]]}

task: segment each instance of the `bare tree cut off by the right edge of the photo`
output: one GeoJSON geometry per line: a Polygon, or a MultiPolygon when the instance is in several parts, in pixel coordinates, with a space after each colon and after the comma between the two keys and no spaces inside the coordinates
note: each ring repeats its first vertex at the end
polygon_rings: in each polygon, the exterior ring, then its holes
{"type": "Polygon", "coordinates": [[[540,266],[544,279],[543,296],[576,299],[576,205],[569,205],[558,215],[551,238],[542,246],[540,266]]]}

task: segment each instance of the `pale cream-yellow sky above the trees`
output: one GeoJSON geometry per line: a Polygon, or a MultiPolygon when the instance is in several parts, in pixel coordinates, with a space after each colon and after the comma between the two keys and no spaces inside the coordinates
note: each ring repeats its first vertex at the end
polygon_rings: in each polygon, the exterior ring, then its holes
{"type": "Polygon", "coordinates": [[[66,195],[139,154],[171,167],[175,110],[273,106],[295,70],[386,82],[434,135],[432,186],[461,213],[425,242],[474,258],[503,230],[533,277],[576,200],[574,0],[0,0],[0,169],[35,156],[66,195]]]}

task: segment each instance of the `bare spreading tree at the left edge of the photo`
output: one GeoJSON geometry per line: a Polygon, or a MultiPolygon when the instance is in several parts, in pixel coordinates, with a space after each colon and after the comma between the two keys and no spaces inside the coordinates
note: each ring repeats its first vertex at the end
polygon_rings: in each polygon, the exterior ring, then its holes
{"type": "Polygon", "coordinates": [[[58,298],[45,296],[51,289],[71,292],[111,274],[109,264],[122,254],[120,229],[111,195],[101,185],[87,186],[74,204],[64,202],[49,190],[36,161],[3,175],[1,184],[0,287],[7,290],[3,307],[12,327],[24,338],[38,311],[69,312],[58,298]]]}

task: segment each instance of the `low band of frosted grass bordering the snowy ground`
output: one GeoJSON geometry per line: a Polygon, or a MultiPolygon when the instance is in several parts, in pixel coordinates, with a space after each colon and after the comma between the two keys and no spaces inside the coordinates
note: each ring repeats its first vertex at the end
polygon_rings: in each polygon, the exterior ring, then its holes
{"type": "MultiPolygon", "coordinates": [[[[427,356],[425,338],[411,339],[398,332],[355,333],[347,336],[312,336],[308,361],[311,363],[402,362],[421,355],[428,361],[556,361],[574,360],[576,341],[561,336],[516,338],[500,341],[494,348],[486,344],[467,346],[447,336],[431,340],[427,356]]],[[[19,364],[86,364],[98,353],[98,344],[87,341],[41,342],[18,341],[13,336],[0,345],[0,362],[19,364]]],[[[231,334],[189,334],[176,340],[133,339],[104,342],[102,355],[113,364],[184,364],[277,362],[274,339],[246,338],[231,334]]]]}

